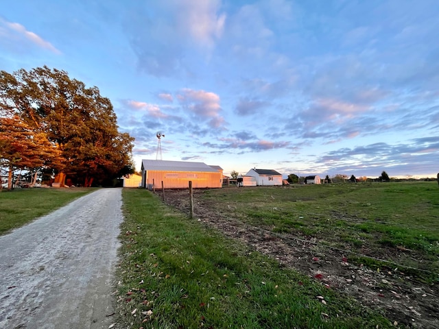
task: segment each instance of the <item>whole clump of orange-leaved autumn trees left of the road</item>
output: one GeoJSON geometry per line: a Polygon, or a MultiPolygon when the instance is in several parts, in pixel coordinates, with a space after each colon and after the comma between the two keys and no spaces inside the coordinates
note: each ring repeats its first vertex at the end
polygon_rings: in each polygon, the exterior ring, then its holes
{"type": "MultiPolygon", "coordinates": [[[[0,71],[0,168],[91,186],[134,173],[134,138],[118,131],[110,100],[47,66],[0,71]]],[[[11,185],[8,186],[11,188],[11,185]]]]}

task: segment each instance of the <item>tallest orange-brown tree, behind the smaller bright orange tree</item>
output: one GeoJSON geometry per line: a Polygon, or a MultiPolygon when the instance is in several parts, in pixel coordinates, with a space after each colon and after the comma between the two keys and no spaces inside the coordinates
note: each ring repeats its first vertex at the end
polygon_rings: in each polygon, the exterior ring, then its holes
{"type": "Polygon", "coordinates": [[[60,152],[63,167],[51,168],[61,184],[69,176],[73,183],[91,186],[93,180],[134,171],[134,138],[118,131],[110,100],[65,71],[47,66],[0,71],[0,117],[18,117],[60,152]]]}

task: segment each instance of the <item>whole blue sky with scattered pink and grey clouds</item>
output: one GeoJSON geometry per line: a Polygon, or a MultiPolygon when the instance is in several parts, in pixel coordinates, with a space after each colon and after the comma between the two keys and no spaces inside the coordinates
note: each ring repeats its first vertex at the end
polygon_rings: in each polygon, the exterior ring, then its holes
{"type": "Polygon", "coordinates": [[[439,171],[437,0],[15,0],[0,69],[97,86],[133,158],[298,175],[439,171]]]}

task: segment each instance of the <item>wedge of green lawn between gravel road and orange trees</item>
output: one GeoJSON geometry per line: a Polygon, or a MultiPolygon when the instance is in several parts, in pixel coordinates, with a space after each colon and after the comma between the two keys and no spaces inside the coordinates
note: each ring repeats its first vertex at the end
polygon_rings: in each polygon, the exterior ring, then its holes
{"type": "Polygon", "coordinates": [[[23,188],[0,193],[0,234],[19,228],[95,188],[23,188]]]}

